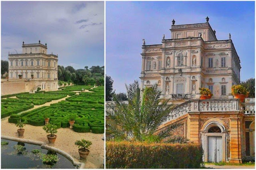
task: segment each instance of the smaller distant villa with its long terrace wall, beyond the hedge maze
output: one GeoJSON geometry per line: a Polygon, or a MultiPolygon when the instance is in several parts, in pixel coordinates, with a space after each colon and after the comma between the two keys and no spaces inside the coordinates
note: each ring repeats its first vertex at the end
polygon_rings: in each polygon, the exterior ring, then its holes
{"type": "Polygon", "coordinates": [[[2,79],[2,95],[58,89],[58,55],[47,54],[47,44],[22,43],[22,53],[8,55],[8,79],[2,79]],[[10,87],[14,86],[14,88],[10,87]]]}

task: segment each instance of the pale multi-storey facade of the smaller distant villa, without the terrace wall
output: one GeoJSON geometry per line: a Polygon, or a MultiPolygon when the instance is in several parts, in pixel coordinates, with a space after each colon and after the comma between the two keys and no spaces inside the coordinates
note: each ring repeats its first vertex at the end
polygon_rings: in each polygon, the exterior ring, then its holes
{"type": "Polygon", "coordinates": [[[36,86],[42,90],[58,89],[58,56],[47,54],[47,44],[23,42],[21,54],[8,56],[10,81],[22,75],[22,80],[38,81],[36,86]]]}

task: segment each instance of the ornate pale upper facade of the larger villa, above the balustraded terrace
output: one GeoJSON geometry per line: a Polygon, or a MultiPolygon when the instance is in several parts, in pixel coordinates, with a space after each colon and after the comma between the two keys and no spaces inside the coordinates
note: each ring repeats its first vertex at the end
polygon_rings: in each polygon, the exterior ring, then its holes
{"type": "Polygon", "coordinates": [[[198,99],[199,87],[207,87],[213,99],[230,98],[241,68],[231,38],[217,40],[208,22],[173,24],[170,31],[171,39],[142,46],[142,88],[158,83],[164,98],[198,99]]]}

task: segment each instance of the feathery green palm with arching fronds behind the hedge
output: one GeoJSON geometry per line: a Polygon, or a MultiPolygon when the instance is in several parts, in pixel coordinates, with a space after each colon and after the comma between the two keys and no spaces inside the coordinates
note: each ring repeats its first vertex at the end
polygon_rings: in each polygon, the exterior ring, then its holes
{"type": "Polygon", "coordinates": [[[161,91],[157,85],[146,87],[140,91],[138,81],[126,85],[128,104],[118,101],[114,96],[116,107],[108,114],[108,130],[117,138],[134,141],[160,141],[166,137],[170,129],[177,125],[171,125],[158,135],[154,135],[159,125],[166,121],[171,111],[168,100],[161,101],[161,91]],[[161,102],[161,103],[160,103],[161,102]]]}

